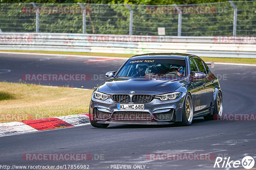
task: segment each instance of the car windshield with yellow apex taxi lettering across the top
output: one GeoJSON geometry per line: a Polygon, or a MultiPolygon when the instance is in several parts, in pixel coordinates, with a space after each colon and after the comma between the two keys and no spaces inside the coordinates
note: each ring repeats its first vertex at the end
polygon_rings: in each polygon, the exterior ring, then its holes
{"type": "Polygon", "coordinates": [[[182,77],[186,73],[186,60],[130,59],[117,77],[182,77]]]}

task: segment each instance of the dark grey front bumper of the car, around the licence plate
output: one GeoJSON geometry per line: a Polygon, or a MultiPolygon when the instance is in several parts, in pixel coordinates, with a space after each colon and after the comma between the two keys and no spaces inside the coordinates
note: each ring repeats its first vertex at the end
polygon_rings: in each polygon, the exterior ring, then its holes
{"type": "MultiPolygon", "coordinates": [[[[91,98],[90,103],[90,118],[91,120],[97,121],[97,123],[105,123],[105,124],[172,124],[176,121],[182,120],[182,111],[183,111],[183,103],[186,93],[181,93],[180,97],[175,100],[169,101],[160,101],[154,98],[151,102],[141,103],[144,104],[144,110],[117,110],[117,103],[114,102],[111,98],[107,100],[98,100],[95,98],[91,98]],[[100,114],[105,114],[104,118],[98,117],[98,111],[100,114]],[[133,113],[137,115],[136,118],[133,119],[116,119],[114,117],[115,114],[127,114],[131,116],[133,113]],[[142,113],[143,112],[143,113],[142,113]],[[150,118],[141,118],[138,114],[147,114],[150,118]],[[172,114],[171,117],[164,117],[165,114],[172,114]],[[160,116],[161,115],[161,116],[160,116]]],[[[125,104],[135,104],[135,103],[125,103],[125,104]]],[[[138,103],[136,103],[138,104],[138,103]]],[[[125,116],[127,116],[125,115],[125,116]]]]}

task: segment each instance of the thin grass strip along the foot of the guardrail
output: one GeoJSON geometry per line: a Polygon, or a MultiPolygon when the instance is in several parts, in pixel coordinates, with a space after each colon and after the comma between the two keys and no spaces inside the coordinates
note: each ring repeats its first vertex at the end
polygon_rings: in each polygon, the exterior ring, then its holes
{"type": "MultiPolygon", "coordinates": [[[[91,55],[103,57],[131,57],[133,54],[115,54],[115,53],[82,53],[82,52],[59,52],[59,51],[24,51],[24,50],[0,50],[7,52],[21,52],[21,53],[48,53],[48,54],[70,54],[70,55],[91,55]]],[[[223,63],[242,63],[242,64],[256,64],[256,59],[245,58],[220,58],[220,57],[201,57],[207,62],[223,62],[223,63]]]]}

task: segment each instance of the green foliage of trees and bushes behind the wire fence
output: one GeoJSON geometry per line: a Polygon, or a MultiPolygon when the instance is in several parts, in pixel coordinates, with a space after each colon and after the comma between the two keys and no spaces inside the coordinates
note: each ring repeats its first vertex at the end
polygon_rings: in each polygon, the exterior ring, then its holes
{"type": "MultiPolygon", "coordinates": [[[[24,2],[26,2],[26,0],[24,2]]],[[[35,2],[41,2],[41,0],[37,0],[35,2]]],[[[45,3],[46,0],[43,2],[45,3]]],[[[53,0],[49,2],[53,2],[53,0]]],[[[63,2],[70,1],[66,0],[63,2]]],[[[86,2],[88,3],[89,1],[86,2]]],[[[133,10],[133,35],[158,35],[157,28],[165,27],[166,35],[177,36],[178,12],[150,12],[148,10],[149,6],[137,4],[191,4],[198,2],[205,3],[212,2],[212,0],[189,0],[184,2],[177,0],[91,0],[90,4],[82,4],[86,8],[86,33],[129,34],[130,11],[126,5],[122,4],[129,3],[133,10]]],[[[256,1],[236,1],[235,5],[237,7],[237,35],[255,35],[256,1]]],[[[73,3],[73,1],[72,4],[36,3],[36,6],[43,8],[80,8],[79,5],[77,3],[73,3]]],[[[173,7],[172,5],[168,6],[173,7]]],[[[182,36],[233,35],[234,9],[229,2],[194,4],[190,6],[210,7],[211,12],[182,13],[182,36]]],[[[36,14],[24,12],[24,7],[32,7],[32,4],[0,4],[0,16],[2,16],[0,18],[0,28],[3,32],[36,32],[36,14]]],[[[157,8],[157,6],[154,7],[157,8]]],[[[185,5],[185,7],[189,7],[189,5],[185,5]]],[[[83,14],[81,12],[41,12],[39,14],[39,32],[83,33],[83,14]]]]}

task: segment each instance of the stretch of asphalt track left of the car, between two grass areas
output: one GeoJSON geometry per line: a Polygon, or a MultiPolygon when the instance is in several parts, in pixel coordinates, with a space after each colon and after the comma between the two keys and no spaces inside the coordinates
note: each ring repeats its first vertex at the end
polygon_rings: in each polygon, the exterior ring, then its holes
{"type": "Polygon", "coordinates": [[[96,58],[35,56],[0,54],[0,73],[2,69],[11,70],[0,74],[0,81],[24,82],[23,74],[89,74],[89,81],[26,81],[27,83],[50,86],[68,86],[92,89],[107,80],[107,71],[117,70],[125,60],[107,60],[96,58]],[[108,63],[106,65],[106,63],[108,63]],[[114,70],[113,70],[114,69],[114,70]]]}

